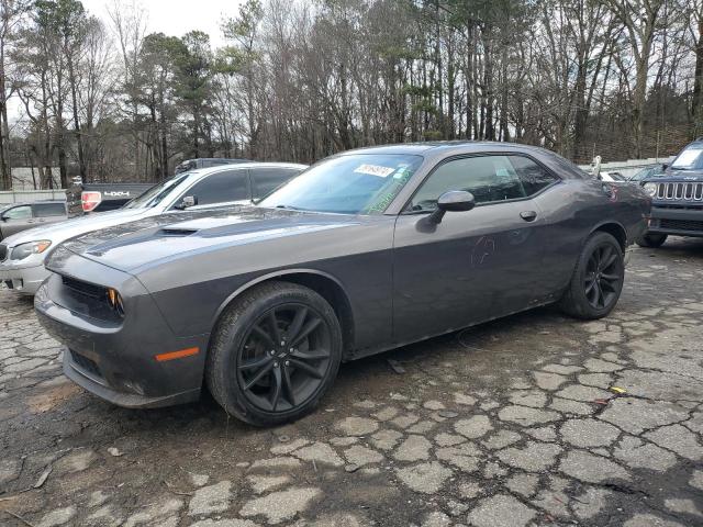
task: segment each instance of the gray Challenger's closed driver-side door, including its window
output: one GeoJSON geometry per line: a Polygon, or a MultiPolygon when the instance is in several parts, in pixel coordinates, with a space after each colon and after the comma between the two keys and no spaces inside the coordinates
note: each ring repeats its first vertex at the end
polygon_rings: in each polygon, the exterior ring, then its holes
{"type": "Polygon", "coordinates": [[[481,155],[439,164],[395,224],[393,328],[414,340],[531,305],[543,257],[543,217],[510,156],[481,155]],[[466,190],[468,212],[437,225],[427,213],[439,195],[466,190]]]}

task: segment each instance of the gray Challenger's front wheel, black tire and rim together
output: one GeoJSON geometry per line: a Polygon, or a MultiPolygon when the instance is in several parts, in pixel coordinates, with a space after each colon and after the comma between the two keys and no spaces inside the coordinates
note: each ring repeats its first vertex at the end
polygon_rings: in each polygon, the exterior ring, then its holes
{"type": "Polygon", "coordinates": [[[332,386],[342,347],[339,321],[325,299],[294,283],[267,282],[220,317],[205,382],[238,419],[255,426],[289,423],[311,413],[332,386]]]}

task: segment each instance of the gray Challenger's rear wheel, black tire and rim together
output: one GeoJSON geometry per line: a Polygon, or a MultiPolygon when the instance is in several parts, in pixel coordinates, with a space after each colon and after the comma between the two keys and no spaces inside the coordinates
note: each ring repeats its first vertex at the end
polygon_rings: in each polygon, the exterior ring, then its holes
{"type": "Polygon", "coordinates": [[[558,305],[577,318],[602,318],[617,304],[624,278],[623,249],[617,239],[607,233],[593,233],[579,255],[569,287],[558,305]]]}

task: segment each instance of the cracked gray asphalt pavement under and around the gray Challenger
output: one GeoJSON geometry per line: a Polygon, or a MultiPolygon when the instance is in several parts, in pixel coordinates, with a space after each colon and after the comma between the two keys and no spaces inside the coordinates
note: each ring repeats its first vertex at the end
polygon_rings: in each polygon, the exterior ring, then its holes
{"type": "Polygon", "coordinates": [[[603,321],[542,309],[347,363],[257,429],[209,397],[93,397],[0,291],[0,524],[703,525],[702,326],[703,240],[673,238],[603,321]]]}

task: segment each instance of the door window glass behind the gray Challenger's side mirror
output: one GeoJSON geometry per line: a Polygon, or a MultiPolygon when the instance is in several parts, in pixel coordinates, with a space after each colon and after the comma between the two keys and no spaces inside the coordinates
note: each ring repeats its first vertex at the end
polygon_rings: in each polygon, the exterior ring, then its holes
{"type": "Polygon", "coordinates": [[[434,211],[437,199],[449,190],[471,192],[476,203],[527,197],[509,156],[476,156],[440,165],[417,190],[410,208],[412,211],[434,211]]]}

